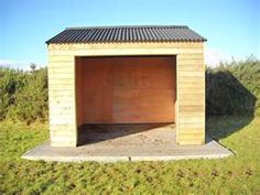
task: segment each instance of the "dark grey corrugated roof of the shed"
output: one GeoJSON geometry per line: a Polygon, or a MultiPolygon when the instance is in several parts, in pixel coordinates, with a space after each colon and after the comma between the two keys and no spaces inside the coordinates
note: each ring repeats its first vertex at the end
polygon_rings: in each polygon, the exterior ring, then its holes
{"type": "Polygon", "coordinates": [[[204,42],[186,25],[67,28],[46,43],[204,42]]]}

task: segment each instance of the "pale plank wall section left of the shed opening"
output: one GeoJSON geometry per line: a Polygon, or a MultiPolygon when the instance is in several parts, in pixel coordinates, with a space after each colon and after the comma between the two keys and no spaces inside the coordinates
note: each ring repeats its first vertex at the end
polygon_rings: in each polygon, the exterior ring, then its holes
{"type": "Polygon", "coordinates": [[[75,56],[63,54],[64,46],[48,46],[51,147],[77,147],[75,56]]]}

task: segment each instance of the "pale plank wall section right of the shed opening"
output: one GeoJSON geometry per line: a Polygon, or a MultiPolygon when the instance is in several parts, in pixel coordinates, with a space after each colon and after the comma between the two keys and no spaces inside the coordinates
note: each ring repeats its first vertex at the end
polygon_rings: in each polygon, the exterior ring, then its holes
{"type": "Polygon", "coordinates": [[[177,143],[205,142],[205,67],[204,55],[182,53],[177,56],[177,143]]]}

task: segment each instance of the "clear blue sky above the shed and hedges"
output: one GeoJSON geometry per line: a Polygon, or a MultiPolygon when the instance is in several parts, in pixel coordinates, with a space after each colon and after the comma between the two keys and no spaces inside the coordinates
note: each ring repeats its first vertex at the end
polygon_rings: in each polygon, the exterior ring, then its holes
{"type": "Polygon", "coordinates": [[[45,41],[68,26],[188,25],[206,63],[260,58],[260,0],[0,0],[0,65],[47,64],[45,41]]]}

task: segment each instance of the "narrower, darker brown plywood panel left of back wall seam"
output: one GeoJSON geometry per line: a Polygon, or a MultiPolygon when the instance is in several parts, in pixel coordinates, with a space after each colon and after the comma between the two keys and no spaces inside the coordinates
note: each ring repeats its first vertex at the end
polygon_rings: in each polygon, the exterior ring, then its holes
{"type": "MultiPolygon", "coordinates": [[[[106,61],[105,61],[106,62],[106,61]]],[[[112,72],[109,63],[83,59],[84,66],[84,122],[112,122],[112,72]]]]}

